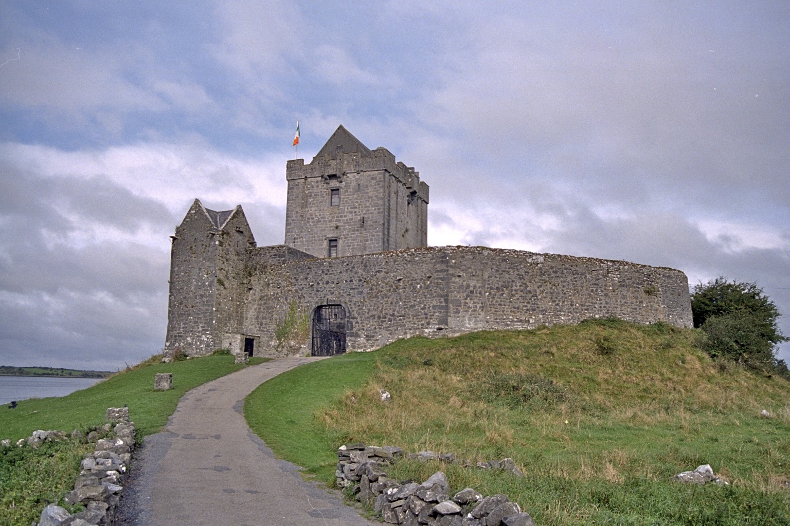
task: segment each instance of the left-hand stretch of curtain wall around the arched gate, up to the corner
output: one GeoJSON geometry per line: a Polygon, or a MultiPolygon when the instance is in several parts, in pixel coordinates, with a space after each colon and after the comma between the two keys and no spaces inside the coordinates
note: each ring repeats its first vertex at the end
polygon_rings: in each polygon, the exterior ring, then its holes
{"type": "MultiPolygon", "coordinates": [[[[321,304],[342,304],[348,350],[371,350],[397,338],[447,328],[445,256],[430,249],[310,259],[272,266],[254,280],[245,330],[273,340],[291,301],[311,316],[321,304]]],[[[308,352],[305,341],[302,353],[308,352]]]]}

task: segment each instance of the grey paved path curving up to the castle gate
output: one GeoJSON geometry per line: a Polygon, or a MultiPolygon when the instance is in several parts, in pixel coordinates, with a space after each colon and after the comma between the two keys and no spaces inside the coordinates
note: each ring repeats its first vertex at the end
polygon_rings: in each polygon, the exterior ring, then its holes
{"type": "Polygon", "coordinates": [[[314,360],[246,367],[187,393],[165,431],[145,437],[138,450],[120,524],[370,526],[336,494],[303,481],[295,465],[278,461],[244,420],[247,394],[314,360]]]}

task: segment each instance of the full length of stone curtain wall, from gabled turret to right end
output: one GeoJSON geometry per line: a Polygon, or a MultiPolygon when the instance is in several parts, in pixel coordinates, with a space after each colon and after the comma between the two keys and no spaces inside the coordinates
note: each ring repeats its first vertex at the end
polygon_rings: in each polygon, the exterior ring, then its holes
{"type": "MultiPolygon", "coordinates": [[[[529,329],[617,316],[691,326],[686,275],[605,259],[480,247],[414,248],[367,256],[260,264],[242,332],[261,347],[291,302],[304,315],[321,304],[348,311],[348,350],[415,334],[529,329]]],[[[302,352],[309,352],[305,341],[302,352]]]]}

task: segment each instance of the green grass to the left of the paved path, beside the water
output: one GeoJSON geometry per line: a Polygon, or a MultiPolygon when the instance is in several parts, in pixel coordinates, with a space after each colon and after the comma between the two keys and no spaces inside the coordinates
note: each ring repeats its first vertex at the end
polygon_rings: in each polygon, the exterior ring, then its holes
{"type": "MultiPolygon", "coordinates": [[[[25,400],[17,408],[0,407],[0,438],[29,436],[36,429],[86,431],[105,422],[108,407],[128,405],[140,438],[160,431],[186,391],[238,371],[244,365],[233,356],[205,356],[161,364],[160,356],[122,371],[95,386],[66,397],[25,400]],[[173,373],[173,389],[153,390],[154,375],[173,373]]],[[[250,359],[250,365],[265,361],[250,359]]],[[[40,449],[0,449],[0,526],[31,524],[52,502],[64,505],[62,496],[73,488],[82,457],[90,445],[77,442],[45,442],[40,449]]]]}

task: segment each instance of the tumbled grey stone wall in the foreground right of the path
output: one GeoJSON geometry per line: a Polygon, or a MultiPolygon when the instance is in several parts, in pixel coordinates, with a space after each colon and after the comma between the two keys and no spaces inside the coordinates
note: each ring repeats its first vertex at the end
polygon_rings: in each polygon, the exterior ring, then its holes
{"type": "MultiPolygon", "coordinates": [[[[347,444],[337,450],[337,485],[351,487],[359,502],[373,507],[378,517],[390,524],[406,526],[534,526],[529,513],[503,494],[483,498],[466,488],[450,496],[450,484],[443,472],[436,472],[425,482],[397,482],[387,476],[386,464],[395,457],[419,460],[456,461],[455,455],[437,455],[430,451],[404,453],[401,448],[347,444]],[[427,454],[431,453],[431,454],[427,454]],[[443,457],[443,458],[442,458],[443,457]]],[[[464,461],[471,465],[468,461],[464,461]]],[[[486,468],[510,468],[512,459],[483,464],[486,468]],[[507,462],[506,462],[507,461],[507,462]]],[[[521,475],[521,472],[518,472],[521,475]]]]}

